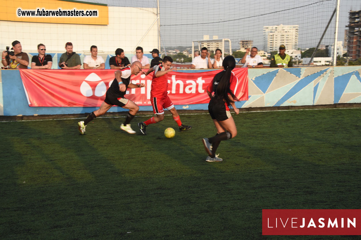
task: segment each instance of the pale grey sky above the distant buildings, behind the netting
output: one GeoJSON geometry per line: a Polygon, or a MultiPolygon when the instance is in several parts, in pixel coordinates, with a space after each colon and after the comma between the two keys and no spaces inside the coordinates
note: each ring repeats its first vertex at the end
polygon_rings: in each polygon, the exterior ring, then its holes
{"type": "MultiPolygon", "coordinates": [[[[109,6],[157,7],[157,1],[90,0],[109,6]]],[[[336,0],[159,0],[162,46],[191,46],[203,35],[231,39],[232,49],[239,40],[265,45],[263,26],[299,25],[299,48],[316,47],[336,6],[336,0]]],[[[343,41],[349,10],[361,10],[360,0],[340,0],[338,40],[343,41]]],[[[335,18],[321,44],[334,42],[335,18]]],[[[131,21],[131,19],[130,19],[131,21]]]]}

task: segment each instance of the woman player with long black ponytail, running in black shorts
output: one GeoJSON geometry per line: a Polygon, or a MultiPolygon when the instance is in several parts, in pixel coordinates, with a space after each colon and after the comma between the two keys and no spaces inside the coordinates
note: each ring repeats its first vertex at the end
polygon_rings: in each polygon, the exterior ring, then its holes
{"type": "Polygon", "coordinates": [[[238,101],[234,95],[238,85],[238,79],[232,72],[236,66],[234,57],[225,57],[222,66],[224,70],[216,74],[207,87],[207,93],[210,97],[208,111],[217,128],[217,134],[214,137],[203,138],[205,150],[209,154],[206,158],[208,162],[222,161],[221,158],[215,155],[219,143],[237,135],[236,124],[229,110],[229,106],[232,106],[234,112],[239,113],[239,109],[234,104],[234,101],[238,101]],[[212,95],[213,92],[214,95],[212,95]]]}

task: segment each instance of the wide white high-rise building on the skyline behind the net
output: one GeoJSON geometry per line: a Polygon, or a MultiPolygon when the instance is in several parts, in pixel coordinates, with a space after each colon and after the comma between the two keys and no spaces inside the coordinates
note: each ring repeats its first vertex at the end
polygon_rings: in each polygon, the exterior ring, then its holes
{"type": "Polygon", "coordinates": [[[286,46],[286,49],[297,49],[298,30],[298,25],[264,26],[266,52],[278,51],[282,44],[286,46]]]}

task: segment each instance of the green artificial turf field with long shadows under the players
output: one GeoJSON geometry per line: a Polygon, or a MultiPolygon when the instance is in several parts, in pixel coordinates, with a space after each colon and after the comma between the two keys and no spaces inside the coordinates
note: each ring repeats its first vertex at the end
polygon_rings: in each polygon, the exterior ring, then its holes
{"type": "Polygon", "coordinates": [[[247,112],[205,161],[208,114],[139,134],[123,117],[0,123],[0,239],[360,239],[262,236],[262,209],[360,209],[360,109],[247,112]]]}

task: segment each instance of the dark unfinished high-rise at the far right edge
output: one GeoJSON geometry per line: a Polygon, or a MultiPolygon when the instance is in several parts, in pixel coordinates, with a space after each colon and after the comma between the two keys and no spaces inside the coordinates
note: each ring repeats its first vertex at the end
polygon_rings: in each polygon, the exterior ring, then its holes
{"type": "Polygon", "coordinates": [[[347,55],[357,59],[361,57],[361,10],[350,11],[348,19],[347,55]]]}

